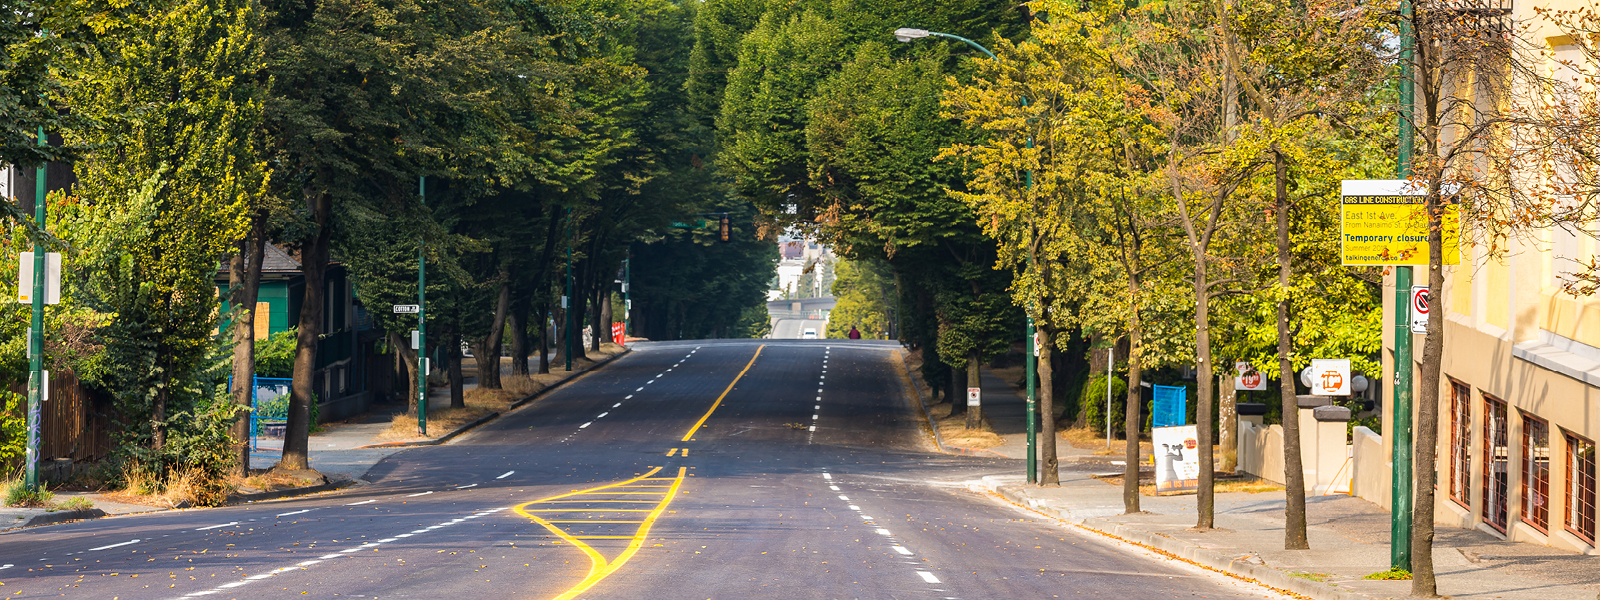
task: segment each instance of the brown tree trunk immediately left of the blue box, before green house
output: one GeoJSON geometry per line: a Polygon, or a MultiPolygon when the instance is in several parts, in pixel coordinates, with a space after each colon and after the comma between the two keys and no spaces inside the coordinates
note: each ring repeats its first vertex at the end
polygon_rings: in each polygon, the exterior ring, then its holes
{"type": "MultiPolygon", "coordinates": [[[[261,261],[267,248],[266,211],[258,211],[250,234],[238,242],[238,253],[227,261],[229,304],[234,306],[234,405],[250,410],[256,387],[256,299],[261,291],[261,261]]],[[[238,413],[232,427],[237,445],[234,475],[250,475],[250,413],[238,413]]]]}

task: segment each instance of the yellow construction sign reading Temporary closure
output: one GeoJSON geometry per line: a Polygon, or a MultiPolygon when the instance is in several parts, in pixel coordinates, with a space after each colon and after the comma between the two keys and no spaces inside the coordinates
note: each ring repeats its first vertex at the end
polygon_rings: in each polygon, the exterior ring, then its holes
{"type": "MultiPolygon", "coordinates": [[[[1426,266],[1426,182],[1358,179],[1341,182],[1339,256],[1344,266],[1426,266]]],[[[1445,195],[1440,226],[1443,264],[1461,264],[1461,203],[1445,195]]]]}

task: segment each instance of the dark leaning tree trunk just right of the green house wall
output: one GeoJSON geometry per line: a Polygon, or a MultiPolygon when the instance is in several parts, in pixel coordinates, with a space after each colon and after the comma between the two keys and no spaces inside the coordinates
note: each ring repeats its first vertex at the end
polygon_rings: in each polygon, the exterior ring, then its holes
{"type": "Polygon", "coordinates": [[[314,235],[301,248],[301,274],[306,296],[301,301],[299,331],[294,338],[294,379],[290,384],[290,416],[283,432],[283,458],[278,467],[310,469],[310,403],[317,378],[317,342],[322,338],[322,310],[328,288],[328,243],[333,240],[333,198],[317,192],[306,198],[317,222],[314,235]]]}

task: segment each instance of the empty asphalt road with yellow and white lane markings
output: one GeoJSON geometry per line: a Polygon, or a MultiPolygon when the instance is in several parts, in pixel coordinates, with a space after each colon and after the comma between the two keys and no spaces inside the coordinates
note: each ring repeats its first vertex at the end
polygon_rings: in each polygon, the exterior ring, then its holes
{"type": "Polygon", "coordinates": [[[0,534],[13,598],[1262,598],[974,493],[896,346],[635,350],[341,493],[0,534]]]}

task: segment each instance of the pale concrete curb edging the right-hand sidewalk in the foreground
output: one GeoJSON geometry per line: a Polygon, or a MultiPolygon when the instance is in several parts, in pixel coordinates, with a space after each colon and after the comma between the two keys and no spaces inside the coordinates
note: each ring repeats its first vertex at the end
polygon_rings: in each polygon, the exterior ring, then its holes
{"type": "MultiPolygon", "coordinates": [[[[990,488],[1002,498],[1021,504],[1024,507],[1050,514],[1051,509],[1042,506],[1042,502],[1026,498],[1019,486],[1016,485],[994,485],[995,482],[987,482],[990,488]]],[[[1214,550],[1200,547],[1198,544],[1168,538],[1163,534],[1139,530],[1131,525],[1117,523],[1102,517],[1075,518],[1070,510],[1058,509],[1058,518],[1082,526],[1085,530],[1122,539],[1125,542],[1139,544],[1160,552],[1171,554],[1178,558],[1192,562],[1200,566],[1218,570],[1222,573],[1235,574],[1245,579],[1253,579],[1262,586],[1277,587],[1280,590],[1288,590],[1312,600],[1371,600],[1373,597],[1355,592],[1338,590],[1330,584],[1310,579],[1293,578],[1288,573],[1278,571],[1272,566],[1248,563],[1238,558],[1222,555],[1214,550]]]]}

